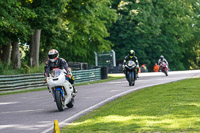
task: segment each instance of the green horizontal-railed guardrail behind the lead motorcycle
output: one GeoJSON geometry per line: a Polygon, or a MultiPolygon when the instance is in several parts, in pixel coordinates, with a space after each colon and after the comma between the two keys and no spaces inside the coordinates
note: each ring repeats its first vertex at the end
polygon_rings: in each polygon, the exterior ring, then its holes
{"type": "MultiPolygon", "coordinates": [[[[72,73],[75,77],[75,84],[101,79],[100,68],[73,71],[72,73]]],[[[45,77],[43,73],[0,75],[0,91],[42,88],[46,86],[44,80],[45,77]]]]}

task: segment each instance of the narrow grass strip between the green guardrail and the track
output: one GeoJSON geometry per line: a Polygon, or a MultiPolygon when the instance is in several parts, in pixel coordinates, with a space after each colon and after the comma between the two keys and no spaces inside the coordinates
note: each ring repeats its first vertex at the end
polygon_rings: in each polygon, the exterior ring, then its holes
{"type": "MultiPolygon", "coordinates": [[[[79,84],[75,84],[75,86],[89,85],[89,84],[95,84],[95,83],[102,83],[102,82],[107,82],[107,81],[121,79],[121,78],[124,78],[124,76],[112,76],[112,75],[109,75],[108,79],[103,79],[103,80],[98,80],[98,81],[92,81],[92,82],[86,82],[86,83],[79,83],[79,84]]],[[[15,91],[11,91],[11,92],[0,92],[0,96],[11,95],[11,94],[18,94],[18,93],[26,93],[26,92],[31,92],[31,91],[41,91],[41,90],[47,90],[47,88],[27,89],[27,90],[15,90],[15,91]]]]}

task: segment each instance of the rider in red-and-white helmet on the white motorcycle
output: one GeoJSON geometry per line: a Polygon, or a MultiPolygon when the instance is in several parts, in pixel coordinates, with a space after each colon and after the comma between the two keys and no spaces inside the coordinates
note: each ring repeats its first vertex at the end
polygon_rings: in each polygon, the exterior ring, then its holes
{"type": "Polygon", "coordinates": [[[70,71],[70,68],[68,67],[68,64],[65,59],[59,58],[59,53],[56,49],[51,49],[48,52],[48,61],[45,62],[45,76],[49,77],[49,72],[53,69],[65,69],[67,74],[66,76],[69,78],[69,82],[73,86],[74,93],[77,93],[77,90],[74,88],[74,76],[72,76],[72,73],[70,71]]]}

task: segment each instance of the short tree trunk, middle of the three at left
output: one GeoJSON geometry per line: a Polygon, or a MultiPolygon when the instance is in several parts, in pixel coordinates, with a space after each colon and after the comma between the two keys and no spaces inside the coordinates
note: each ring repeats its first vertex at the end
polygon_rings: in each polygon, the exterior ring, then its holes
{"type": "Polygon", "coordinates": [[[12,55],[11,60],[14,69],[21,68],[20,51],[18,42],[12,42],[12,55]]]}

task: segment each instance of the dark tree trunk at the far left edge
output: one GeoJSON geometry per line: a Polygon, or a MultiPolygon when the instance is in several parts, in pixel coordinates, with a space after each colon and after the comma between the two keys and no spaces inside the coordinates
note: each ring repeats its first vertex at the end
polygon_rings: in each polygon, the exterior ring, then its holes
{"type": "Polygon", "coordinates": [[[3,51],[1,56],[2,61],[10,64],[10,56],[11,56],[10,43],[8,45],[3,45],[2,51],[3,51]]]}

